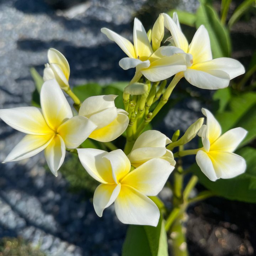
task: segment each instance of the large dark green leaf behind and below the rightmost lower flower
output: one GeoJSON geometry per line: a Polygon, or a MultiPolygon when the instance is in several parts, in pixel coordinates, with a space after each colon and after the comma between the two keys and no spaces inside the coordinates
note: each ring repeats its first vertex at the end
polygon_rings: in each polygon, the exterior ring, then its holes
{"type": "Polygon", "coordinates": [[[213,182],[202,173],[197,164],[193,164],[190,170],[198,176],[201,184],[218,196],[230,200],[256,203],[256,149],[245,147],[236,153],[241,155],[247,164],[246,172],[238,177],[227,180],[219,179],[213,182]]]}

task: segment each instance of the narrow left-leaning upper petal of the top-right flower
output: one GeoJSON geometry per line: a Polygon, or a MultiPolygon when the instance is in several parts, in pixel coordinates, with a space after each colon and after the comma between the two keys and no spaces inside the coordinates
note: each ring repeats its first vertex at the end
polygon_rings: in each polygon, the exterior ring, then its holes
{"type": "Polygon", "coordinates": [[[188,42],[184,34],[178,28],[176,23],[172,18],[167,14],[162,14],[164,16],[165,27],[171,32],[171,35],[174,39],[175,46],[181,48],[184,52],[188,51],[188,42]]]}

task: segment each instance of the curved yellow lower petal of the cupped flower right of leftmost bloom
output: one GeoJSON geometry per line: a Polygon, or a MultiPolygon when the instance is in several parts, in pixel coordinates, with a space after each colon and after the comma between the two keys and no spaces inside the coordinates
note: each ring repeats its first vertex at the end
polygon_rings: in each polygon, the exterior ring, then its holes
{"type": "Polygon", "coordinates": [[[107,126],[94,130],[89,138],[100,142],[110,142],[118,138],[129,124],[127,114],[127,112],[123,113],[123,110],[117,109],[117,118],[107,126]]]}

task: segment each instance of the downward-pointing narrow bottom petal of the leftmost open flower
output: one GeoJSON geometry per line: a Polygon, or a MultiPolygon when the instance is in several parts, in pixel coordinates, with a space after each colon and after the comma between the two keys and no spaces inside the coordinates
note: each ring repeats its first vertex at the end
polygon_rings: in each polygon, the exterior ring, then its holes
{"type": "Polygon", "coordinates": [[[62,137],[60,137],[60,135],[57,134],[49,143],[47,148],[44,150],[44,156],[46,157],[47,164],[51,172],[56,177],[58,176],[57,171],[64,162],[65,154],[65,143],[62,137]]]}

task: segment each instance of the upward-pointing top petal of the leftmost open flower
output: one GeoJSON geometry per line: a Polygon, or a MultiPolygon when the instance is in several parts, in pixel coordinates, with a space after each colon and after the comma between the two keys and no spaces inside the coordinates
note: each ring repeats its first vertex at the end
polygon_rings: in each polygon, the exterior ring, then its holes
{"type": "Polygon", "coordinates": [[[40,101],[46,122],[53,130],[73,117],[71,107],[55,79],[44,82],[40,101]]]}

